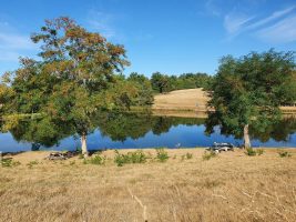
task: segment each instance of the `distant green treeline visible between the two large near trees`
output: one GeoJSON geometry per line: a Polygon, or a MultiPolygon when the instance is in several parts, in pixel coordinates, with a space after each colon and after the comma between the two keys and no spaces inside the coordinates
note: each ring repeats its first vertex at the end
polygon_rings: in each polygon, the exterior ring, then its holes
{"type": "Polygon", "coordinates": [[[151,78],[137,72],[129,77],[118,75],[114,95],[119,103],[129,105],[150,105],[155,93],[166,93],[173,90],[204,88],[211,90],[213,77],[206,73],[184,73],[181,75],[167,75],[154,72],[151,78]]]}

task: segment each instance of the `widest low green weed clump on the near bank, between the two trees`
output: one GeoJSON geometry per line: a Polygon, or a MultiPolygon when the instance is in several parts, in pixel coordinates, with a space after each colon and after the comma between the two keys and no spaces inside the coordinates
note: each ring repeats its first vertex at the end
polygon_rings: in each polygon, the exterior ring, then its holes
{"type": "Polygon", "coordinates": [[[126,154],[120,153],[115,150],[114,162],[118,167],[123,167],[126,163],[144,163],[146,162],[147,157],[142,150],[137,150],[134,152],[127,152],[126,154]]]}

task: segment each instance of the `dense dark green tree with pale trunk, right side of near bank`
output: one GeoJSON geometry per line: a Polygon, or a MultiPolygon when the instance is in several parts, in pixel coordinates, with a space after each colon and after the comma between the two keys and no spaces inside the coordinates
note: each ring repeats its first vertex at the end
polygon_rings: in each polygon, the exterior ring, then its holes
{"type": "Polygon", "coordinates": [[[215,108],[208,125],[220,124],[224,133],[243,135],[244,147],[249,148],[249,125],[266,129],[279,120],[280,104],[295,102],[295,89],[290,87],[295,85],[294,70],[293,52],[269,50],[239,59],[222,58],[208,103],[215,108]]]}

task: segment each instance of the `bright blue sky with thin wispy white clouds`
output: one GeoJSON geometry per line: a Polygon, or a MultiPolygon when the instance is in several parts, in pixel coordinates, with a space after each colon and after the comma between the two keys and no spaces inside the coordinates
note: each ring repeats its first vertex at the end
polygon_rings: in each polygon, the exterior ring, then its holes
{"type": "Polygon", "coordinates": [[[131,67],[215,73],[218,59],[296,50],[295,0],[0,0],[0,73],[35,57],[30,34],[44,19],[69,16],[127,50],[131,67]]]}

